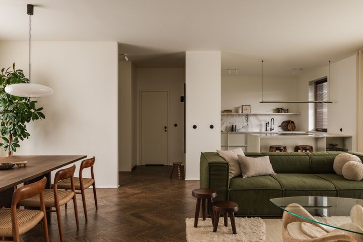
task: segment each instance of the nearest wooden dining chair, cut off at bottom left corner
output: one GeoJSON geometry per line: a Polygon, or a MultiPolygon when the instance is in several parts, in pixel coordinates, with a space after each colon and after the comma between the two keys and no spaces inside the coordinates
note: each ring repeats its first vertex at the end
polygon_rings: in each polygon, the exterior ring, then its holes
{"type": "Polygon", "coordinates": [[[0,240],[12,237],[14,242],[20,242],[20,235],[34,228],[42,221],[44,238],[49,242],[48,225],[46,222],[44,188],[46,178],[38,182],[16,189],[13,193],[11,208],[0,208],[0,240]],[[40,210],[18,209],[21,200],[36,196],[40,201],[40,210]]]}

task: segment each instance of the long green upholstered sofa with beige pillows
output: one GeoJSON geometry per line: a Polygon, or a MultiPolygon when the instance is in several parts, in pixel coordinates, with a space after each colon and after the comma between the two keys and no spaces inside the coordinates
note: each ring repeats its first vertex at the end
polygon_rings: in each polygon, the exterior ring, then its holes
{"type": "MultiPolygon", "coordinates": [[[[295,196],[329,196],[363,199],[363,181],[349,181],[333,170],[341,152],[244,153],[248,157],[269,156],[277,175],[229,179],[229,165],[216,152],[204,152],[200,162],[201,188],[217,191],[214,202],[239,204],[237,216],[282,216],[269,200],[295,196]]],[[[349,152],[363,161],[363,153],[349,152]]]]}

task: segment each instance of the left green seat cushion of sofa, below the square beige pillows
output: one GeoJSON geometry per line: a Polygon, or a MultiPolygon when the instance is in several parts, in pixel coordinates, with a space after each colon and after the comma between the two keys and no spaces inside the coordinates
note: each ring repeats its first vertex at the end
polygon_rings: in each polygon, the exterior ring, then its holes
{"type": "Polygon", "coordinates": [[[282,190],[280,183],[270,175],[254,177],[234,177],[230,179],[229,190],[282,190]]]}

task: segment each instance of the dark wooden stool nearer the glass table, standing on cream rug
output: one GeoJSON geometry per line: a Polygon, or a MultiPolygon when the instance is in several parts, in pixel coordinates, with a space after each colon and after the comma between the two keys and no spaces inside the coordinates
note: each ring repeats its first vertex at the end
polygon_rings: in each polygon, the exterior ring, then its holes
{"type": "Polygon", "coordinates": [[[236,231],[236,222],[235,222],[235,212],[238,211],[238,204],[236,202],[231,201],[220,201],[213,203],[213,211],[215,211],[215,219],[214,219],[214,226],[213,226],[213,232],[217,232],[218,228],[218,222],[219,222],[219,216],[221,212],[224,216],[224,226],[228,226],[228,218],[227,214],[229,215],[231,219],[231,225],[232,225],[232,232],[233,234],[237,234],[236,231]]]}

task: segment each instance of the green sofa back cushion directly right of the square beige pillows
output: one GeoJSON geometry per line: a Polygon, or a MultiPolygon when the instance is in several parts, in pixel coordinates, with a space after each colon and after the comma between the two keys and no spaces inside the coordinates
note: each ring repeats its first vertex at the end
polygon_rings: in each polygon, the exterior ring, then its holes
{"type": "Polygon", "coordinates": [[[276,173],[310,173],[309,156],[303,152],[264,152],[276,173]]]}

